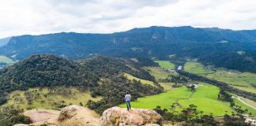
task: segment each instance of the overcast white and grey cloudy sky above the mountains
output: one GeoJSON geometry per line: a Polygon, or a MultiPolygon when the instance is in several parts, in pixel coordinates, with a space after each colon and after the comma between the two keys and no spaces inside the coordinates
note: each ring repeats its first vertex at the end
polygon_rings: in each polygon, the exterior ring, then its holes
{"type": "Polygon", "coordinates": [[[158,26],[256,29],[256,0],[0,0],[0,38],[158,26]]]}

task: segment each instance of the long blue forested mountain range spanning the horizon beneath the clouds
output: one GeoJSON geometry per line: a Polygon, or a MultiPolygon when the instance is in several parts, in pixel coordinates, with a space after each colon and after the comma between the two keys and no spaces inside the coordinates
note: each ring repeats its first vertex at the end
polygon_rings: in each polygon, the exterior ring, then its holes
{"type": "Polygon", "coordinates": [[[165,60],[198,58],[204,64],[256,72],[256,30],[153,26],[112,34],[21,35],[0,47],[0,54],[17,59],[32,54],[73,59],[96,54],[165,60]]]}

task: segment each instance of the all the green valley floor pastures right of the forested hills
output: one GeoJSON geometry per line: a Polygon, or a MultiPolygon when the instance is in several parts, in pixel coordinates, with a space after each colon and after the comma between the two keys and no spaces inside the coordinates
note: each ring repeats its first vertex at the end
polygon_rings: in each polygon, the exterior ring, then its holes
{"type": "MultiPolygon", "coordinates": [[[[159,62],[159,61],[157,61],[159,62]]],[[[138,98],[137,101],[132,102],[132,106],[134,108],[146,108],[146,109],[154,109],[156,106],[161,106],[164,109],[168,109],[169,111],[177,111],[179,112],[183,108],[188,107],[190,104],[194,104],[198,106],[198,110],[204,111],[204,113],[213,113],[215,117],[221,117],[225,113],[231,114],[235,112],[230,106],[229,102],[222,102],[217,100],[217,95],[219,94],[220,89],[213,85],[207,83],[201,83],[200,86],[196,89],[195,93],[192,93],[186,87],[178,87],[173,88],[174,83],[161,83],[160,80],[168,78],[170,75],[178,75],[176,72],[170,72],[168,69],[164,69],[168,61],[160,61],[160,67],[145,67],[152,76],[156,78],[156,81],[160,83],[162,87],[164,87],[165,93],[160,95],[152,95],[147,96],[145,98],[138,98]],[[163,65],[164,63],[164,65],[163,65]],[[175,106],[175,109],[171,109],[171,105],[173,103],[179,103],[179,106],[175,106]]],[[[241,83],[241,85],[247,85],[248,83],[256,82],[254,81],[254,76],[256,78],[256,74],[253,73],[242,73],[242,72],[234,72],[227,71],[224,69],[213,69],[213,66],[205,68],[204,65],[201,65],[198,62],[188,62],[185,64],[184,70],[187,72],[196,73],[202,76],[207,76],[212,79],[220,80],[226,83],[241,83]],[[222,78],[221,78],[221,77],[222,78]],[[221,79],[220,79],[221,78],[221,79]]],[[[140,80],[138,78],[130,77],[130,80],[140,80]]],[[[141,80],[142,83],[148,83],[148,80],[141,80]]],[[[152,83],[151,83],[152,84],[152,83]]],[[[233,85],[234,86],[234,85],[233,85]]],[[[250,88],[250,91],[254,92],[254,87],[250,88]]],[[[241,106],[242,109],[248,109],[249,113],[252,113],[256,116],[256,110],[254,109],[255,102],[250,101],[246,98],[235,98],[235,104],[241,106]]],[[[125,104],[120,105],[122,107],[126,107],[125,104]]]]}

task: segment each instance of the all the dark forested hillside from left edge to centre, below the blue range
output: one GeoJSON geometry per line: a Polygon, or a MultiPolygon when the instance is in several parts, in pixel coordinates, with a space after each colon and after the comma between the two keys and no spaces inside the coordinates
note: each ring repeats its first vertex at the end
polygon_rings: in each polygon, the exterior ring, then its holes
{"type": "Polygon", "coordinates": [[[158,94],[163,91],[156,87],[127,80],[122,74],[154,80],[145,65],[156,65],[153,61],[114,57],[91,57],[86,61],[72,61],[51,54],[36,54],[14,65],[0,69],[0,105],[7,101],[11,91],[25,91],[32,87],[76,87],[80,91],[89,90],[92,97],[102,96],[100,102],[88,102],[88,106],[101,113],[107,107],[119,105],[126,91],[134,99],[158,94]]]}

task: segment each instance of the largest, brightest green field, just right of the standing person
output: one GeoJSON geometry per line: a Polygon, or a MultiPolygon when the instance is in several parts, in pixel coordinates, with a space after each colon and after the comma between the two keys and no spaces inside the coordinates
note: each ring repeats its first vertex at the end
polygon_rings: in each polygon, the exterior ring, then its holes
{"type": "MultiPolygon", "coordinates": [[[[213,113],[215,117],[223,116],[226,113],[225,111],[231,114],[233,109],[229,107],[229,103],[217,100],[219,91],[218,87],[206,83],[201,83],[194,94],[186,87],[179,87],[160,95],[138,98],[137,101],[132,102],[132,107],[153,109],[156,106],[161,106],[170,110],[172,103],[178,102],[181,106],[176,107],[175,110],[177,111],[194,104],[198,106],[198,110],[208,114],[213,113]]],[[[125,104],[120,106],[126,107],[125,104]]]]}

